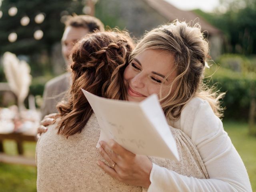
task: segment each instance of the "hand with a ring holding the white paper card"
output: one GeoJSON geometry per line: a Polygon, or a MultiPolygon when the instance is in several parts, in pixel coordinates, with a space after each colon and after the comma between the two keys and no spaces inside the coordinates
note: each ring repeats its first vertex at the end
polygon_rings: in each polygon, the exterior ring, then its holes
{"type": "Polygon", "coordinates": [[[152,162],[144,155],[136,155],[120,146],[114,140],[100,141],[98,148],[102,157],[111,166],[98,160],[97,164],[112,177],[126,184],[148,188],[152,162]]]}

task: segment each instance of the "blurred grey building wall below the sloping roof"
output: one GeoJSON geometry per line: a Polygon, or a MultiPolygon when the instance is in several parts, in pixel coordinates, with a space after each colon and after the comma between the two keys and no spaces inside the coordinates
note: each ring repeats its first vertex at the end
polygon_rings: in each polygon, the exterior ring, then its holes
{"type": "Polygon", "coordinates": [[[126,28],[137,38],[168,22],[143,0],[99,0],[95,16],[110,27],[126,28]]]}

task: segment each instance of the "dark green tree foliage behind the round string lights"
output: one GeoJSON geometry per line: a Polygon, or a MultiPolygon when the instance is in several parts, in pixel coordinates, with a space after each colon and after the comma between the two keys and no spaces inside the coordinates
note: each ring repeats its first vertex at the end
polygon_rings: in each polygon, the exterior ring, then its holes
{"type": "Polygon", "coordinates": [[[62,37],[64,24],[60,22],[60,18],[63,11],[66,10],[68,14],[81,14],[82,7],[80,1],[70,0],[4,0],[1,7],[3,16],[0,19],[0,54],[6,51],[26,55],[42,50],[50,52],[52,45],[59,42],[62,37]],[[11,6],[18,8],[18,13],[12,17],[8,15],[11,6]],[[36,24],[34,17],[40,12],[45,14],[45,20],[41,24],[36,24]],[[30,18],[28,26],[20,24],[20,19],[25,15],[30,18]],[[33,34],[39,28],[44,32],[44,36],[41,40],[35,40],[33,34]],[[8,42],[8,34],[11,32],[17,33],[16,42],[8,42]]]}

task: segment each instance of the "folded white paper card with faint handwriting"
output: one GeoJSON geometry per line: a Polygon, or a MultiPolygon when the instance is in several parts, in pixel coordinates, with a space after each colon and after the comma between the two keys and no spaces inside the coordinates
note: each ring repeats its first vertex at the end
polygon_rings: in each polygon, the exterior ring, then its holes
{"type": "Polygon", "coordinates": [[[137,103],[82,91],[100,125],[99,141],[114,139],[134,154],[179,160],[176,142],[156,94],[137,103]]]}

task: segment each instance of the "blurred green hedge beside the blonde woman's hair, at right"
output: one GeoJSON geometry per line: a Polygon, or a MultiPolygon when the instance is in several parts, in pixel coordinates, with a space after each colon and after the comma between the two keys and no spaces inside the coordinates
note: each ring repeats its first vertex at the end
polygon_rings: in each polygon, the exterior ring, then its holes
{"type": "Polygon", "coordinates": [[[222,102],[226,108],[224,119],[248,120],[250,102],[256,97],[256,73],[247,71],[250,64],[250,60],[243,56],[224,55],[220,58],[220,67],[214,64],[206,70],[206,77],[210,76],[209,86],[226,92],[222,102]]]}

